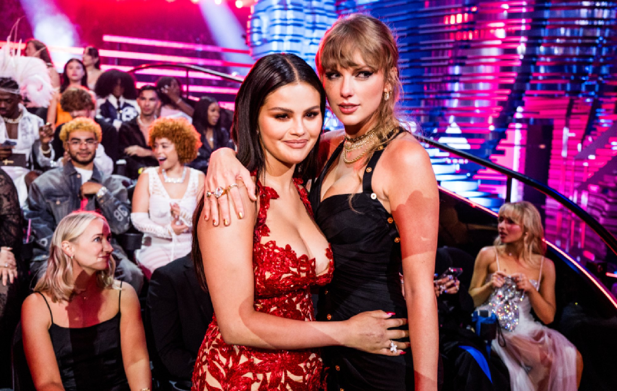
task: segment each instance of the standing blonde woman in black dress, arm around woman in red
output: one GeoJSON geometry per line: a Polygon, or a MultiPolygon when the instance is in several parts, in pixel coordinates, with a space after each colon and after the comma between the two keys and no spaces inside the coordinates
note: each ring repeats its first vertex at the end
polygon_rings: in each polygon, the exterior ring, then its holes
{"type": "MultiPolygon", "coordinates": [[[[412,353],[378,357],[328,348],[328,389],[437,389],[439,196],[428,154],[395,116],[398,57],[384,23],[351,15],[328,30],[315,59],[329,107],[345,127],[322,138],[328,162],[310,193],[315,221],[334,253],[334,276],[321,292],[318,319],[346,320],[378,309],[408,317],[412,353]]],[[[220,151],[210,158],[205,190],[242,179],[254,195],[249,172],[234,162],[232,151],[220,151]]],[[[232,188],[220,203],[210,198],[214,225],[230,221],[229,198],[243,213],[239,197],[232,188]]]]}

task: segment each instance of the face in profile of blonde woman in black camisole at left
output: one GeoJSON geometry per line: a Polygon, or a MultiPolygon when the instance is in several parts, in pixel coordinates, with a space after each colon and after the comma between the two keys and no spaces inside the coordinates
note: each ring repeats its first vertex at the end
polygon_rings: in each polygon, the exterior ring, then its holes
{"type": "Polygon", "coordinates": [[[93,274],[107,268],[114,251],[110,241],[111,231],[107,222],[94,219],[77,240],[63,243],[63,248],[68,257],[73,256],[73,270],[81,268],[93,274]]]}

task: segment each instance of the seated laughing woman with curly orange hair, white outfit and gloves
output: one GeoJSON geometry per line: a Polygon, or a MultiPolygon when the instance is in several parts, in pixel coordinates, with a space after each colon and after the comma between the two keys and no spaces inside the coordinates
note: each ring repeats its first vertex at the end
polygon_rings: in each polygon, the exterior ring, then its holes
{"type": "Polygon", "coordinates": [[[159,167],[146,168],[135,187],[131,220],[144,233],[135,252],[147,277],[158,267],[191,252],[193,211],[204,174],[184,166],[201,145],[195,128],[183,118],[159,118],[149,129],[159,167]]]}

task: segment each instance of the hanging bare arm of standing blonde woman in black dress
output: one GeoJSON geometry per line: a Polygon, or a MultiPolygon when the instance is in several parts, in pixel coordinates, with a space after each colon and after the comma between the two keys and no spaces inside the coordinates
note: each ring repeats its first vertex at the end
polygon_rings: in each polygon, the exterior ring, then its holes
{"type": "Polygon", "coordinates": [[[400,233],[415,389],[436,390],[439,326],[433,273],[439,225],[437,182],[431,161],[416,140],[397,140],[386,153],[384,190],[400,233]]]}

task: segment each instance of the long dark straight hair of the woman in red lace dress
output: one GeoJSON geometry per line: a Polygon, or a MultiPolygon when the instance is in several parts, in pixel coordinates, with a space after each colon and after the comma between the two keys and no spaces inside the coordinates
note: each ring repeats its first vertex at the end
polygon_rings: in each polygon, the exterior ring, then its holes
{"type": "MultiPolygon", "coordinates": [[[[326,113],[326,92],[323,90],[320,79],[313,68],[302,58],[295,54],[277,53],[270,54],[257,60],[255,65],[244,78],[236,95],[236,110],[234,111],[231,137],[238,145],[236,157],[249,171],[257,171],[257,178],[265,170],[265,156],[259,141],[257,126],[259,110],[268,95],[277,89],[291,83],[307,83],[320,95],[320,111],[322,121],[326,113]]],[[[297,99],[302,99],[298,97],[297,99]]],[[[323,127],[323,123],[321,124],[323,127]]],[[[315,179],[317,174],[317,154],[319,150],[319,137],[309,155],[296,164],[294,176],[300,177],[305,182],[315,179]]],[[[202,194],[197,203],[193,215],[193,264],[199,284],[207,291],[205,281],[204,264],[197,231],[201,222],[201,212],[204,209],[204,195],[202,194]]]]}

